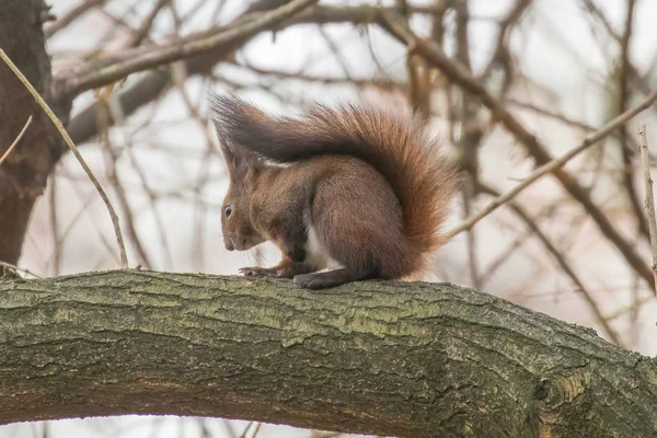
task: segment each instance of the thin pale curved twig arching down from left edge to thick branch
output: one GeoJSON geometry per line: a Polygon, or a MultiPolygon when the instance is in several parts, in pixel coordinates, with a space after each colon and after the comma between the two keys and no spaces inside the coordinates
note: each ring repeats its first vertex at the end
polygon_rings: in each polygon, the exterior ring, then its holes
{"type": "Polygon", "coordinates": [[[120,253],[122,267],[127,268],[128,267],[128,256],[126,254],[126,246],[124,244],[123,234],[120,232],[120,227],[118,224],[118,217],[116,216],[116,212],[114,211],[114,207],[112,207],[112,203],[110,203],[110,198],[107,197],[107,194],[105,194],[105,191],[103,191],[103,187],[101,187],[101,184],[99,183],[99,181],[95,178],[95,176],[91,172],[91,169],[89,168],[89,165],[87,165],[87,162],[84,161],[84,159],[80,154],[80,151],[78,150],[78,148],[76,147],[76,145],[73,143],[71,138],[69,137],[64,125],[61,124],[61,120],[55,115],[55,113],[53,113],[53,110],[50,110],[50,107],[48,106],[46,101],[44,101],[44,99],[38,94],[38,92],[34,89],[34,87],[32,87],[32,83],[30,83],[27,78],[25,78],[25,76],[21,72],[21,70],[19,70],[19,68],[13,64],[13,61],[11,59],[9,59],[9,57],[7,56],[4,50],[2,50],[1,48],[0,48],[0,58],[2,58],[4,64],[7,64],[7,66],[13,71],[13,73],[19,78],[19,80],[23,83],[23,85],[25,85],[25,88],[30,91],[30,93],[32,94],[34,100],[38,103],[38,105],[43,108],[43,111],[48,115],[48,117],[50,118],[50,120],[53,122],[53,124],[55,125],[57,130],[59,130],[59,134],[61,135],[61,137],[64,138],[64,140],[66,141],[68,147],[70,148],[73,155],[76,155],[76,158],[80,162],[80,165],[82,165],[82,169],[84,169],[84,172],[87,173],[87,175],[89,175],[89,178],[91,180],[94,187],[101,195],[101,198],[103,198],[103,201],[105,203],[105,206],[107,207],[107,211],[110,212],[110,217],[112,219],[112,224],[114,226],[114,232],[116,234],[116,241],[118,243],[118,249],[119,249],[119,253],[120,253]]]}

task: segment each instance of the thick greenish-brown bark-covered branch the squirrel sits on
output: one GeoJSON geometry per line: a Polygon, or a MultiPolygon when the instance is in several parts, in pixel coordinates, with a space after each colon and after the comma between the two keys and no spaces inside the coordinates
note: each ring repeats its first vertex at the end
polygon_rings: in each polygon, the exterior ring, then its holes
{"type": "Polygon", "coordinates": [[[221,416],[404,437],[654,437],[657,364],[452,285],[0,280],[0,424],[221,416]]]}

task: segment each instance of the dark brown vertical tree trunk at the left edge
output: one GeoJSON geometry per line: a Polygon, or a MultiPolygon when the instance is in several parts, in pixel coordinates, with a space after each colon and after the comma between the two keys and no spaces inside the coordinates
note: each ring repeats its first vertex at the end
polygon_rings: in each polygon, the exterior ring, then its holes
{"type": "MultiPolygon", "coordinates": [[[[41,21],[45,10],[43,0],[1,0],[0,48],[47,97],[50,58],[41,21]]],[[[55,110],[66,123],[70,101],[65,101],[55,110]]],[[[0,61],[0,155],[30,115],[34,117],[30,129],[0,166],[0,261],[11,264],[21,255],[34,201],[43,194],[48,174],[64,149],[48,117],[9,67],[0,61]]]]}

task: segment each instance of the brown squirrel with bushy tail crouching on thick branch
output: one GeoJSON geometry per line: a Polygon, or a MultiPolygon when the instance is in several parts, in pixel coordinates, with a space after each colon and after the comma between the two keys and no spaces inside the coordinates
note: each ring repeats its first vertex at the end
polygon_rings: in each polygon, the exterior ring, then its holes
{"type": "Polygon", "coordinates": [[[355,104],[273,117],[232,95],[210,110],[230,176],[226,249],[283,253],[240,273],[322,289],[426,272],[459,175],[424,119],[355,104]]]}

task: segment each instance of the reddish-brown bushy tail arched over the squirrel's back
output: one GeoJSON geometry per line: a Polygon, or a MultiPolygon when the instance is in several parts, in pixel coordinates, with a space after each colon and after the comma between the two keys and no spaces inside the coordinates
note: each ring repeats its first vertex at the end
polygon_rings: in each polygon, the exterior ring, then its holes
{"type": "Polygon", "coordinates": [[[427,253],[443,243],[439,228],[459,176],[419,117],[351,104],[315,105],[299,118],[273,117],[239,97],[217,95],[211,107],[222,148],[245,148],[279,163],[322,154],[369,163],[396,194],[413,247],[427,253]]]}

